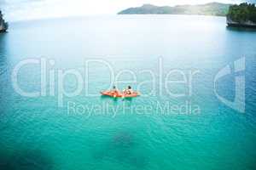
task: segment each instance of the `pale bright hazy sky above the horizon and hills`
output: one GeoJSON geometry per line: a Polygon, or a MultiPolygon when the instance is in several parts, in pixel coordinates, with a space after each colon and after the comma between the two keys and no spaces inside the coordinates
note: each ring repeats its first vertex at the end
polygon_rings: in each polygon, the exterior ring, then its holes
{"type": "MultiPolygon", "coordinates": [[[[116,14],[120,10],[143,3],[177,5],[210,3],[214,0],[0,0],[7,20],[32,20],[88,14],[116,14]]],[[[220,3],[241,3],[242,0],[216,0],[220,3]]],[[[251,0],[256,2],[256,0],[251,0]]]]}

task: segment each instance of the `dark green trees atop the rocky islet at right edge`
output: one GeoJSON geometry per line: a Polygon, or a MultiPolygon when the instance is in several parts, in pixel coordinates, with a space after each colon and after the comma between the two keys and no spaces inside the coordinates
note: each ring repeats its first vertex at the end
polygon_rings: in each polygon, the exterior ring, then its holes
{"type": "Polygon", "coordinates": [[[256,7],[253,3],[241,3],[230,6],[228,18],[234,22],[243,23],[252,21],[256,23],[256,7]]]}

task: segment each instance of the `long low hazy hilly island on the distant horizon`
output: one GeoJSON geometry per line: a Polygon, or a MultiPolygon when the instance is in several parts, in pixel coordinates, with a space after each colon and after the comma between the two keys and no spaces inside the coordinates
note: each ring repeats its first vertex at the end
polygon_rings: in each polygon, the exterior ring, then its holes
{"type": "Polygon", "coordinates": [[[199,15],[215,15],[226,16],[229,12],[231,4],[225,3],[206,3],[201,5],[177,5],[154,6],[144,4],[142,7],[127,8],[118,14],[199,14],[199,15]]]}

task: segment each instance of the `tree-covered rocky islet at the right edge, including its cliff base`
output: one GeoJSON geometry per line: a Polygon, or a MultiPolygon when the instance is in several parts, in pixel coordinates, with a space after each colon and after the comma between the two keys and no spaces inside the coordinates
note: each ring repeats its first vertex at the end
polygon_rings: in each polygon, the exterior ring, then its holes
{"type": "Polygon", "coordinates": [[[230,6],[227,14],[228,26],[256,28],[256,7],[253,3],[230,6]]]}

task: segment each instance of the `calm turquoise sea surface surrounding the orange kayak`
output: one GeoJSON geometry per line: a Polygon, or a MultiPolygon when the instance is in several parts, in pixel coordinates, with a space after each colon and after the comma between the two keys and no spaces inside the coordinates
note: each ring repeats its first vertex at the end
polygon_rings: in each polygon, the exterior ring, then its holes
{"type": "Polygon", "coordinates": [[[256,31],[222,17],[10,23],[0,35],[0,169],[256,169],[255,72],[256,31]],[[234,73],[237,59],[245,71],[234,73]],[[113,77],[143,96],[99,95],[113,77]],[[235,77],[245,78],[245,111],[216,95],[234,100],[235,77]]]}

